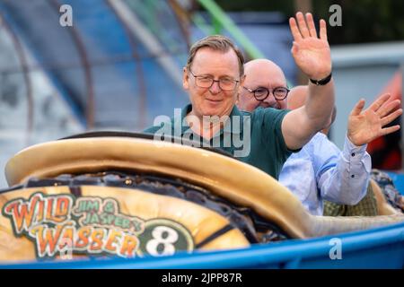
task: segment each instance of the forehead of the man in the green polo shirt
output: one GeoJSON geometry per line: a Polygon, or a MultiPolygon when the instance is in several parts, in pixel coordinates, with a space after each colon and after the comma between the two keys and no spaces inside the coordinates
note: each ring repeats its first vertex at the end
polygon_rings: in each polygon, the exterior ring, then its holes
{"type": "Polygon", "coordinates": [[[191,65],[197,74],[233,75],[239,74],[239,61],[232,48],[222,52],[212,48],[200,48],[191,65]]]}

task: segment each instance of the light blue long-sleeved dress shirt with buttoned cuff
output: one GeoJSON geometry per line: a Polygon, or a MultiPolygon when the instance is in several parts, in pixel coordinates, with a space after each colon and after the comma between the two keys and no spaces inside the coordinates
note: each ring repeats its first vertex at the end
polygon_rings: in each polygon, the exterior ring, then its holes
{"type": "Polygon", "coordinates": [[[323,200],[357,204],[366,194],[372,162],[366,145],[356,146],[346,136],[344,149],[317,133],[300,152],[293,153],[279,175],[313,215],[322,215],[323,200]]]}

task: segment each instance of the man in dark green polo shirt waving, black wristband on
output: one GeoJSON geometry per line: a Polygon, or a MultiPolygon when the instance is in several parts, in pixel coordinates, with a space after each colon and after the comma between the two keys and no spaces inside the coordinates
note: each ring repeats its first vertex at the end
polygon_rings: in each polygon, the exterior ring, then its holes
{"type": "Polygon", "coordinates": [[[209,145],[230,152],[241,161],[278,178],[291,152],[329,125],[334,106],[334,84],[326,23],[320,22],[320,38],[312,14],[296,13],[289,20],[294,37],[292,55],[306,74],[309,97],[304,109],[294,111],[235,107],[244,81],[242,52],[224,36],[209,36],[195,43],[183,69],[183,88],[190,104],[174,111],[174,117],[157,117],[145,133],[154,138],[176,136],[195,145],[209,145]]]}

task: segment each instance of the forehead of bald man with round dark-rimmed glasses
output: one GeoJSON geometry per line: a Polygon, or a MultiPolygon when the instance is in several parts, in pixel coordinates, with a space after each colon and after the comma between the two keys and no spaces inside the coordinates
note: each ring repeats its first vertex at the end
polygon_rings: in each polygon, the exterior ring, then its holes
{"type": "Polygon", "coordinates": [[[252,87],[285,87],[286,79],[282,70],[269,65],[250,66],[245,69],[246,78],[244,84],[252,87]]]}

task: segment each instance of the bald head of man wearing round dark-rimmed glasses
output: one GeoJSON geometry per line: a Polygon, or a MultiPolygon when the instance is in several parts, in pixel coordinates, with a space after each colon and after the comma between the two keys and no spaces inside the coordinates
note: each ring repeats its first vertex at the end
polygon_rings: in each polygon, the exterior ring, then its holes
{"type": "Polygon", "coordinates": [[[237,103],[239,109],[252,111],[258,107],[286,109],[286,100],[275,100],[272,91],[277,87],[286,88],[286,78],[282,69],[268,59],[256,59],[244,65],[244,87],[255,91],[266,88],[270,92],[267,99],[256,100],[252,92],[241,87],[237,103]]]}

